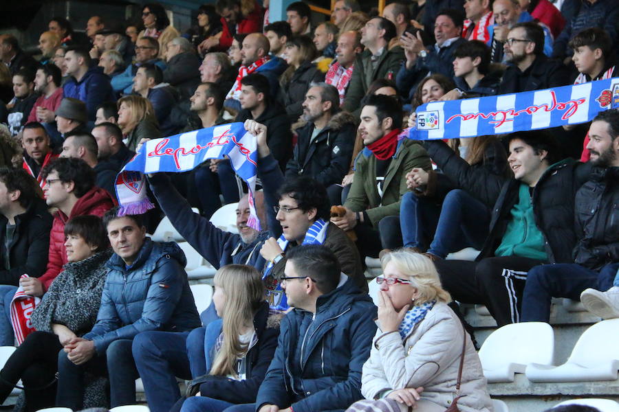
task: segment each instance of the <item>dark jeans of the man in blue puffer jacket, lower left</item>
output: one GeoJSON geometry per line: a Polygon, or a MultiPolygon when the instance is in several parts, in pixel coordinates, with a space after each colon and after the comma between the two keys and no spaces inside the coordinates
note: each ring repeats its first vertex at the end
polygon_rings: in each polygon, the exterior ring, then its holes
{"type": "Polygon", "coordinates": [[[105,351],[105,356],[97,355],[83,365],[69,361],[64,350],[58,352],[58,391],[56,406],[83,409],[84,372],[102,371],[107,366],[111,407],[135,404],[135,380],[140,376],[135,368],[129,339],[113,341],[105,351]]]}

